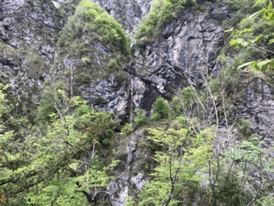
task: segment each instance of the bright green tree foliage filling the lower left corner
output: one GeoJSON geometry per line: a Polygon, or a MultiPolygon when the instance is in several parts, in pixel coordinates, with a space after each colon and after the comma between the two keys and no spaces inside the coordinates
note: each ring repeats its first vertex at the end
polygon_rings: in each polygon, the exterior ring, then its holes
{"type": "Polygon", "coordinates": [[[0,92],[2,205],[88,204],[88,192],[104,187],[110,179],[106,171],[118,163],[98,167],[95,152],[90,152],[112,134],[112,115],[94,111],[81,98],[68,98],[53,88],[55,98],[49,99],[53,102],[44,102],[39,111],[49,118],[39,120],[47,120],[47,130],[38,133],[26,128],[23,137],[17,138],[3,125],[8,111],[6,88],[0,92]]]}

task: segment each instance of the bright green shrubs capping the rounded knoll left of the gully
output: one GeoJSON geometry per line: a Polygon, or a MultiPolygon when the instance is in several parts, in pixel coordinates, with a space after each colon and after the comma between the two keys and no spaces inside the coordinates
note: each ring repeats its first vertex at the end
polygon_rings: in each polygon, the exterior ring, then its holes
{"type": "Polygon", "coordinates": [[[64,27],[64,34],[58,42],[60,47],[69,46],[71,41],[78,41],[88,33],[97,34],[94,40],[109,45],[114,51],[127,55],[129,53],[128,38],[122,28],[97,3],[82,0],[64,27]]]}

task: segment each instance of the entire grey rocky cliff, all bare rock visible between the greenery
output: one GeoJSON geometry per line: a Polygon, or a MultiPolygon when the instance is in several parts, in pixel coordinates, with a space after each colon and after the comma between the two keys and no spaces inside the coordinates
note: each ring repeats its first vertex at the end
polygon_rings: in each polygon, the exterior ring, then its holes
{"type": "MultiPolygon", "coordinates": [[[[151,0],[96,2],[132,39],[152,3],[151,0]]],[[[218,56],[227,40],[221,21],[229,21],[233,15],[225,3],[202,1],[202,11],[184,9],[154,42],[132,41],[131,52],[125,56],[121,49],[99,37],[98,28],[81,29],[77,40],[67,37],[68,43],[61,42],[62,35],[69,36],[71,32],[66,29],[71,19],[78,18],[68,19],[77,3],[0,1],[0,77],[10,83],[12,94],[30,95],[32,102],[39,104],[38,90],[45,87],[46,80],[58,75],[62,80],[74,76],[68,85],[73,86],[75,93],[97,110],[115,113],[120,124],[124,124],[129,122],[132,108],[144,108],[150,113],[156,98],[171,100],[179,89],[190,85],[201,92],[209,78],[217,78],[222,72],[218,56]]],[[[77,30],[76,23],[74,28],[77,30]]],[[[262,136],[268,148],[274,137],[273,81],[262,73],[249,71],[236,78],[233,98],[229,99],[233,105],[229,115],[231,119],[248,119],[249,133],[262,136]]],[[[117,154],[123,163],[115,171],[118,178],[108,186],[112,205],[125,205],[126,197],[138,194],[149,181],[153,161],[149,157],[151,151],[138,144],[145,142],[143,133],[142,129],[136,130],[119,143],[117,154]]],[[[227,123],[221,122],[219,133],[224,137],[223,142],[229,141],[225,139],[227,123]]]]}

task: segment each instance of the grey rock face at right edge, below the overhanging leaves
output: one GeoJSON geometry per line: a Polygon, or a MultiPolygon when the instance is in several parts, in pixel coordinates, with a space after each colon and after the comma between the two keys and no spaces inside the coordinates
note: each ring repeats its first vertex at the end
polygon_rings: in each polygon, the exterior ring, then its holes
{"type": "Polygon", "coordinates": [[[241,85],[244,90],[235,101],[238,118],[250,122],[250,133],[264,139],[264,146],[274,143],[274,84],[273,80],[262,73],[244,72],[241,85]]]}

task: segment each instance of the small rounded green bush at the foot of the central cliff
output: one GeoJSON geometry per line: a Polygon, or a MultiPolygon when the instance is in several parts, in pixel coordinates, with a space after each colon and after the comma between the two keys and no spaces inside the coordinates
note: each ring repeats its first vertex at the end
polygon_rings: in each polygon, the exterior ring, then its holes
{"type": "Polygon", "coordinates": [[[158,98],[152,105],[153,114],[151,116],[152,120],[165,119],[169,117],[169,102],[163,98],[158,98]]]}

